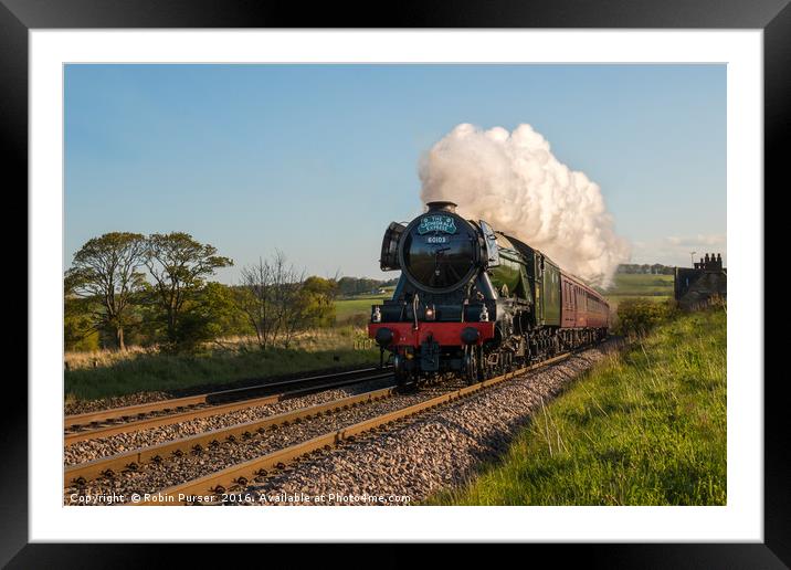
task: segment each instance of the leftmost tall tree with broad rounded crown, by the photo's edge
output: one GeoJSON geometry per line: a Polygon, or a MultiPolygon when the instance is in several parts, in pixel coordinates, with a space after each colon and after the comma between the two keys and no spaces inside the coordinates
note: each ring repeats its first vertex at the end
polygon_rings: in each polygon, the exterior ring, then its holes
{"type": "Polygon", "coordinates": [[[139,233],[112,232],[93,238],[74,254],[64,286],[70,294],[96,302],[92,310],[96,330],[113,331],[116,346],[125,350],[124,328],[131,317],[130,305],[145,277],[138,267],[146,251],[139,233]]]}

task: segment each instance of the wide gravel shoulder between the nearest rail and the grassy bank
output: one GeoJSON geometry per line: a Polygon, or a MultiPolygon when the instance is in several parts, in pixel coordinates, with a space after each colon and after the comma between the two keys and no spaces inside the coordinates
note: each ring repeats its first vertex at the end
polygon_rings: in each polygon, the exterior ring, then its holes
{"type": "Polygon", "coordinates": [[[394,428],[312,454],[251,484],[241,504],[403,504],[391,497],[405,496],[415,503],[462,485],[482,462],[500,456],[531,415],[540,420],[544,403],[619,345],[611,339],[394,428]],[[326,499],[317,502],[315,497],[321,495],[326,499]]]}

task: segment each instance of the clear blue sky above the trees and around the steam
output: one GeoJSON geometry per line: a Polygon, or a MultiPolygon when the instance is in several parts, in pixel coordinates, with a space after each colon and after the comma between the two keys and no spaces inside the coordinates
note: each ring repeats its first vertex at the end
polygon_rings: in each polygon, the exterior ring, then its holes
{"type": "Polygon", "coordinates": [[[67,65],[65,261],[109,231],[389,277],[418,161],[460,123],[528,123],[601,186],[636,263],[726,254],[725,65],[67,65]]]}

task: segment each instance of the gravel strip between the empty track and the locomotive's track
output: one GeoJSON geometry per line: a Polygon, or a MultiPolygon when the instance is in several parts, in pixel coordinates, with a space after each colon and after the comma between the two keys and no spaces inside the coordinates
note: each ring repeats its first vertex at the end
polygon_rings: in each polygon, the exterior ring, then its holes
{"type": "Polygon", "coordinates": [[[64,450],[64,464],[76,465],[88,461],[116,455],[118,453],[149,447],[180,437],[197,435],[211,430],[229,428],[239,423],[251,422],[270,415],[289,412],[299,408],[308,408],[319,403],[338,400],[348,395],[359,394],[378,388],[392,384],[392,379],[372,380],[359,384],[350,384],[344,388],[326,390],[313,394],[292,398],[265,405],[238,410],[208,418],[200,418],[189,422],[181,422],[171,425],[161,425],[149,430],[133,431],[110,435],[96,440],[76,442],[64,450]]]}

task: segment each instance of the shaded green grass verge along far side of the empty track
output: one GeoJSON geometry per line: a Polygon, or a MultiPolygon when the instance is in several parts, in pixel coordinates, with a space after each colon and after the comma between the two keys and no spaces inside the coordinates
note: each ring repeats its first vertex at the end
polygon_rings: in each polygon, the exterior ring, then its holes
{"type": "Polygon", "coordinates": [[[379,363],[378,350],[355,350],[352,347],[354,339],[349,337],[345,346],[334,349],[271,348],[262,351],[253,348],[175,356],[137,353],[112,366],[65,371],[65,394],[68,401],[92,400],[379,363]]]}

